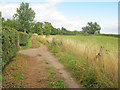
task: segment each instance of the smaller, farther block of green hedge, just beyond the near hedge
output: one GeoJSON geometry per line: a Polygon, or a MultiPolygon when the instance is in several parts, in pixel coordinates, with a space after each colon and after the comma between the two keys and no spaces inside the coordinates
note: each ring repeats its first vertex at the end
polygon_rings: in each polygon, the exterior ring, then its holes
{"type": "Polygon", "coordinates": [[[25,32],[19,32],[19,44],[25,46],[28,43],[29,35],[25,32]]]}

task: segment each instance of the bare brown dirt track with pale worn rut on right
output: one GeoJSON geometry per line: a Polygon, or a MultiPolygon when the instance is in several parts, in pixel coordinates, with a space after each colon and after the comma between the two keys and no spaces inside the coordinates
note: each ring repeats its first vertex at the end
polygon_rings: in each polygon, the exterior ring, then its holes
{"type": "Polygon", "coordinates": [[[56,73],[56,81],[59,77],[64,80],[66,88],[82,88],[80,84],[73,78],[63,64],[48,50],[48,48],[40,44],[39,48],[30,48],[21,50],[19,53],[27,54],[31,59],[27,62],[25,72],[25,88],[46,88],[49,73],[45,70],[48,67],[54,68],[56,73]]]}

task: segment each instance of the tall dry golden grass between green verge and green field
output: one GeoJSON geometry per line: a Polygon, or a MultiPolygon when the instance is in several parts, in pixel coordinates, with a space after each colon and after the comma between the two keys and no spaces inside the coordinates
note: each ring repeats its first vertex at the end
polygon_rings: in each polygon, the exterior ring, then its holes
{"type": "MultiPolygon", "coordinates": [[[[75,43],[72,40],[56,39],[57,42],[62,42],[63,50],[77,55],[80,58],[87,59],[87,62],[92,68],[95,68],[97,79],[110,87],[118,87],[118,57],[114,53],[109,53],[101,47],[89,47],[82,43],[75,43]],[[102,76],[110,77],[104,78],[102,76]]],[[[79,63],[79,62],[78,62],[79,63]]],[[[78,66],[79,67],[79,66],[78,66]]]]}

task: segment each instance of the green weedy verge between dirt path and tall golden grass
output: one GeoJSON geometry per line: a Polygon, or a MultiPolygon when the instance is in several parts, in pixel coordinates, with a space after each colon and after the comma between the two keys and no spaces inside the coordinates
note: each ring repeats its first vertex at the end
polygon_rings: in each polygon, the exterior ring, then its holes
{"type": "MultiPolygon", "coordinates": [[[[64,64],[76,79],[85,87],[88,88],[117,88],[118,79],[116,77],[116,71],[107,71],[110,67],[104,68],[100,63],[90,61],[85,55],[77,53],[79,50],[72,48],[71,45],[62,43],[61,41],[53,40],[52,43],[46,41],[46,39],[39,39],[47,45],[50,51],[64,64]]],[[[111,62],[110,62],[111,63],[111,62]]],[[[112,69],[112,68],[111,68],[112,69]]]]}

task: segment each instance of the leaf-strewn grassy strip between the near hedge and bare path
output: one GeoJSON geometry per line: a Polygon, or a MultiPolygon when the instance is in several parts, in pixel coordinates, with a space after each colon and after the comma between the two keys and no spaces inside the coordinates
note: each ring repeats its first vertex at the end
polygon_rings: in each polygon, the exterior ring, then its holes
{"type": "Polygon", "coordinates": [[[3,88],[23,88],[27,55],[17,53],[2,73],[3,88]]]}

